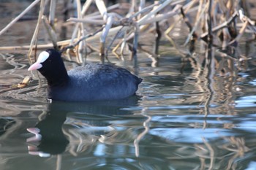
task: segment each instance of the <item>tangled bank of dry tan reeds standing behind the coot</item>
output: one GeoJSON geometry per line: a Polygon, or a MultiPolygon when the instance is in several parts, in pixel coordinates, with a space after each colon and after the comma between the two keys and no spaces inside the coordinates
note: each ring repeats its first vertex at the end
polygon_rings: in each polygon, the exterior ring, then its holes
{"type": "MultiPolygon", "coordinates": [[[[110,50],[121,59],[124,59],[125,50],[129,50],[132,58],[140,50],[140,36],[156,34],[157,40],[165,36],[176,47],[181,55],[191,55],[195,49],[195,42],[203,40],[206,46],[226,50],[237,47],[243,37],[244,41],[255,40],[255,20],[251,19],[252,1],[212,1],[212,0],[160,0],[160,1],[121,1],[119,4],[108,6],[108,1],[87,0],[81,2],[74,0],[76,17],[69,17],[68,1],[61,1],[64,5],[64,23],[72,24],[70,39],[59,41],[56,33],[56,9],[60,1],[34,0],[29,7],[23,10],[14,20],[0,31],[0,37],[5,31],[23,17],[31,8],[39,5],[37,26],[30,45],[0,47],[0,50],[29,50],[28,56],[37,53],[37,49],[54,47],[56,50],[76,55],[77,62],[82,63],[89,50],[97,51],[102,58],[108,60],[110,50]],[[96,9],[94,12],[90,8],[96,9]],[[127,9],[127,10],[125,10],[127,9]],[[45,12],[48,11],[48,12],[45,12]],[[89,12],[90,11],[90,12],[89,12]],[[121,13],[118,13],[120,12],[121,13]],[[47,15],[46,15],[47,13],[47,15]],[[187,26],[188,34],[184,47],[189,47],[189,52],[179,50],[176,43],[169,35],[178,22],[187,26]],[[86,31],[87,25],[93,25],[94,31],[86,31]],[[40,27],[47,30],[50,43],[38,44],[40,27]],[[245,36],[249,34],[249,36],[245,36]],[[111,39],[108,39],[111,37],[111,39]],[[98,41],[98,47],[90,42],[98,41]]],[[[157,51],[157,50],[155,50],[157,51]]],[[[246,58],[244,58],[246,59],[246,58]]]]}

